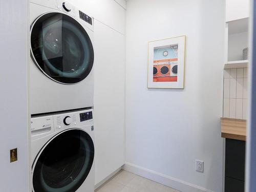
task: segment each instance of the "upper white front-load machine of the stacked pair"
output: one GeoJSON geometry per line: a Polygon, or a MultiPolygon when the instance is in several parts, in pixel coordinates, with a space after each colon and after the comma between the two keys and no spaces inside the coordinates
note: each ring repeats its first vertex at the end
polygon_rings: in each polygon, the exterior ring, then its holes
{"type": "Polygon", "coordinates": [[[93,18],[67,1],[30,0],[31,114],[93,106],[93,18]]]}

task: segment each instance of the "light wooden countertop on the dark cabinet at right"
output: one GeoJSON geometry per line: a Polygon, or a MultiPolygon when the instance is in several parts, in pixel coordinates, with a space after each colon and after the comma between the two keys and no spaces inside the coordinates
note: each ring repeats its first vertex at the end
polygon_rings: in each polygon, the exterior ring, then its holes
{"type": "Polygon", "coordinates": [[[246,120],[221,118],[221,137],[246,140],[246,120]]]}

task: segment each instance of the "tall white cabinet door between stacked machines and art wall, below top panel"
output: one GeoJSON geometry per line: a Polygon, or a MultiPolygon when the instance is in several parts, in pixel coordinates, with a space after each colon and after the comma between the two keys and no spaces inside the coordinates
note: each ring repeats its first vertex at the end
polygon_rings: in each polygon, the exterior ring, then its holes
{"type": "Polygon", "coordinates": [[[95,20],[95,184],[124,164],[125,36],[95,20]]]}

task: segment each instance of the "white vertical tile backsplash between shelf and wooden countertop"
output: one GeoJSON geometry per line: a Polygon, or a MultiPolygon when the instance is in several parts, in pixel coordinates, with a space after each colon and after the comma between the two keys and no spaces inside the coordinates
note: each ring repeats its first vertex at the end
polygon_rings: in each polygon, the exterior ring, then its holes
{"type": "Polygon", "coordinates": [[[247,76],[247,68],[224,70],[223,117],[246,119],[247,76]]]}

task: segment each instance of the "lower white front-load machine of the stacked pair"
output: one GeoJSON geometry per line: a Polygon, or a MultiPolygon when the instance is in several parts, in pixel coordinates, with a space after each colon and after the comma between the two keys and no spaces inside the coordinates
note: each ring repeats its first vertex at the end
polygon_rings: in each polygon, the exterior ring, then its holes
{"type": "Polygon", "coordinates": [[[32,191],[93,192],[93,111],[31,118],[32,191]]]}

